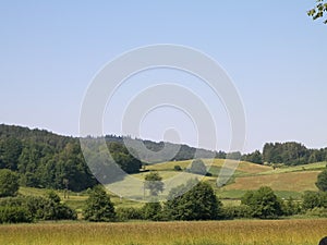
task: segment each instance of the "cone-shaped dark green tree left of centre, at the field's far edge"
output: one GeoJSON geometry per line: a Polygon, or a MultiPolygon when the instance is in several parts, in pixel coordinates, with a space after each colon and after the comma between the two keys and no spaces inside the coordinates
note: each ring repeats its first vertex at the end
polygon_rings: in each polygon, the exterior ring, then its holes
{"type": "Polygon", "coordinates": [[[113,204],[102,186],[97,185],[93,188],[86,200],[83,216],[88,221],[114,221],[116,212],[113,204]]]}

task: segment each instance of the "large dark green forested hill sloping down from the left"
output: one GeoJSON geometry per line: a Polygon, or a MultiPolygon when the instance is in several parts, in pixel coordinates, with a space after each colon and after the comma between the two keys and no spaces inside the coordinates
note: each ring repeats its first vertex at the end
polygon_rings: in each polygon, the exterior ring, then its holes
{"type": "MultiPolygon", "coordinates": [[[[106,136],[108,148],[118,164],[128,172],[140,171],[143,162],[135,159],[122,145],[123,138],[106,136]]],[[[164,143],[131,139],[140,159],[148,162],[171,160],[167,150],[161,150],[164,143]],[[144,143],[149,151],[137,149],[144,143]]],[[[166,144],[168,149],[177,150],[175,160],[194,158],[196,148],[186,145],[166,144]]],[[[168,150],[169,151],[169,150],[168,150]]],[[[198,149],[198,157],[213,157],[214,151],[198,149]]],[[[97,181],[85,163],[77,137],[57,135],[45,130],[0,124],[0,169],[10,169],[20,174],[21,185],[72,191],[83,191],[94,186],[97,181]]]]}

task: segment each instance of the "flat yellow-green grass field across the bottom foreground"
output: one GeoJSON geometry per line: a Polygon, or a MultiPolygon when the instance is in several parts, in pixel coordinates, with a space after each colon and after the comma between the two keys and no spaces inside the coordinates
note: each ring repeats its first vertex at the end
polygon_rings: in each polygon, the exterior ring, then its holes
{"type": "Polygon", "coordinates": [[[1,225],[3,245],[317,245],[327,220],[1,225]]]}

